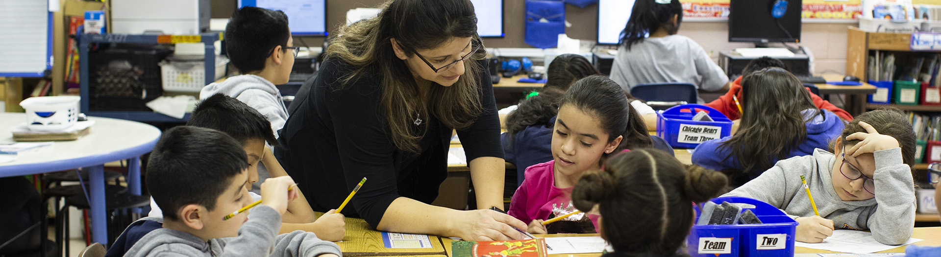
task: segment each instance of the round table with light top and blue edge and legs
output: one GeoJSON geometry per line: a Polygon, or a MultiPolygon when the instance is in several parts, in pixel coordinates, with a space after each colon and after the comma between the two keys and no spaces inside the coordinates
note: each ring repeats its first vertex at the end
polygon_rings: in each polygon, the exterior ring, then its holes
{"type": "MultiPolygon", "coordinates": [[[[88,217],[93,242],[107,245],[107,211],[104,201],[104,164],[130,160],[128,191],[140,195],[140,155],[150,153],[160,138],[152,125],[99,117],[90,133],[74,141],[57,141],[50,147],[20,153],[11,162],[0,163],[0,177],[23,176],[64,169],[88,169],[88,217]]],[[[0,113],[0,142],[13,141],[10,130],[26,122],[24,113],[0,113]]]]}

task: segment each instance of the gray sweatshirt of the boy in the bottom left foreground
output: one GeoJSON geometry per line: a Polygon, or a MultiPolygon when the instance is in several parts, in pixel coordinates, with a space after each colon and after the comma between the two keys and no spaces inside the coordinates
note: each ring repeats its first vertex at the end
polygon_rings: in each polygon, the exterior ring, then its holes
{"type": "Polygon", "coordinates": [[[310,232],[278,235],[281,216],[265,205],[252,208],[248,221],[236,237],[208,242],[191,233],[158,229],[140,238],[124,256],[343,256],[333,242],[320,240],[310,232]]]}

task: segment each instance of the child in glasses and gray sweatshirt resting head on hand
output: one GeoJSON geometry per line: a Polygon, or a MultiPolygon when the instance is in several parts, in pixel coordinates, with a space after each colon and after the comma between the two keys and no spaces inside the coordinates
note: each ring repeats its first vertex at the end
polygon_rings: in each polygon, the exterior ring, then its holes
{"type": "Polygon", "coordinates": [[[846,125],[831,148],[834,153],[818,149],[779,161],[724,196],[753,198],[784,210],[800,223],[799,242],[820,243],[834,229],[849,229],[869,230],[879,243],[899,245],[915,224],[915,145],[912,125],[900,110],[869,111],[846,125]],[[801,175],[820,216],[814,215],[801,175]]]}

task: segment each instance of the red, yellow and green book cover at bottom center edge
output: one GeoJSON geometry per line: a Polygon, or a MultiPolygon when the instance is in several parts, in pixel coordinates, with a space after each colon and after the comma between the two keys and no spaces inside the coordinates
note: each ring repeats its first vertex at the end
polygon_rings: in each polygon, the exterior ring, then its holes
{"type": "Polygon", "coordinates": [[[545,257],[546,241],[542,238],[515,241],[455,241],[453,257],[545,257]]]}

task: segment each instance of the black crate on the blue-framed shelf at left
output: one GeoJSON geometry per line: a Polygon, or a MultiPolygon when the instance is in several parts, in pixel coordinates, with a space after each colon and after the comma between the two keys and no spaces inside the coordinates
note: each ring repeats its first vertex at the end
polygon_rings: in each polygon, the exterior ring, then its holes
{"type": "Polygon", "coordinates": [[[89,108],[151,111],[145,104],[163,95],[158,63],[173,53],[160,44],[100,45],[88,52],[89,108]]]}

